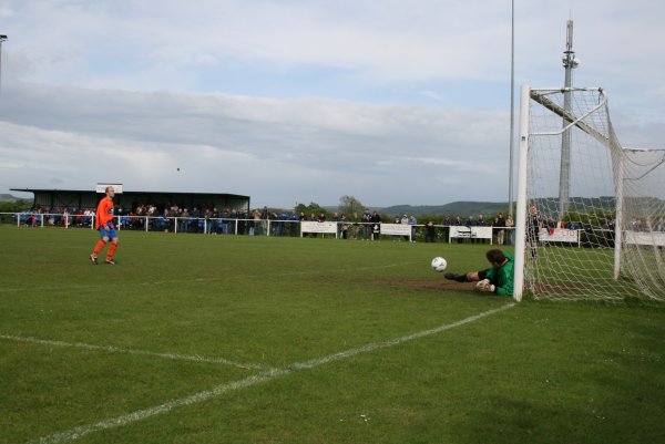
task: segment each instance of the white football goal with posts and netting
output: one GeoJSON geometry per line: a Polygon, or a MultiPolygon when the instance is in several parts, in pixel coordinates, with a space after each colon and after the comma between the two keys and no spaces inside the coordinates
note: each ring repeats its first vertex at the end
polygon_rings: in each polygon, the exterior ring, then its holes
{"type": "Polygon", "coordinates": [[[665,300],[665,151],[622,147],[602,89],[524,86],[520,138],[515,299],[665,300]]]}

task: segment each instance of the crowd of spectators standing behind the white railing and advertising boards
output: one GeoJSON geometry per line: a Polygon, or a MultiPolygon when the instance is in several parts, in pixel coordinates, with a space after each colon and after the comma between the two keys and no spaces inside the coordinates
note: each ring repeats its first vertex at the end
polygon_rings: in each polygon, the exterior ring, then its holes
{"type": "MultiPolygon", "coordinates": [[[[451,226],[458,227],[492,227],[493,245],[514,244],[514,220],[503,213],[485,217],[485,215],[461,216],[443,215],[429,217],[427,223],[419,224],[413,215],[383,217],[376,210],[365,208],[361,214],[318,211],[306,215],[296,210],[269,210],[267,207],[247,211],[234,208],[217,208],[215,206],[193,206],[187,208],[176,204],[157,208],[155,205],[141,204],[129,211],[116,208],[117,224],[121,229],[161,230],[166,233],[201,233],[207,235],[249,235],[249,236],[299,236],[301,221],[334,221],[338,227],[338,237],[350,240],[376,240],[380,235],[380,225],[385,223],[411,226],[411,236],[403,236],[405,240],[423,240],[426,242],[447,241],[448,230],[451,226]],[[147,227],[146,227],[147,224],[147,227]]],[[[24,226],[68,226],[90,228],[94,219],[93,208],[75,208],[68,206],[53,206],[44,208],[35,206],[19,215],[24,226]]],[[[557,228],[567,228],[581,233],[584,246],[601,245],[612,246],[614,242],[615,223],[612,219],[586,218],[585,220],[559,220],[554,217],[542,216],[542,229],[550,234],[557,228]]],[[[633,219],[630,221],[631,230],[635,231],[665,231],[665,218],[653,220],[633,219]]],[[[316,233],[305,236],[317,237],[316,233]]],[[[395,237],[393,237],[395,238],[395,237]]],[[[399,238],[399,237],[398,237],[399,238]]],[[[396,239],[398,240],[398,239],[396,239]]],[[[399,239],[401,240],[401,239],[399,239]]],[[[458,241],[489,242],[470,236],[468,239],[459,238],[458,241]]]]}

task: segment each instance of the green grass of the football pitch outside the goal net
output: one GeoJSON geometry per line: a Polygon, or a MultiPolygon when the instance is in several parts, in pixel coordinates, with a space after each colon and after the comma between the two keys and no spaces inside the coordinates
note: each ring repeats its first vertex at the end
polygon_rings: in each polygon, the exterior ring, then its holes
{"type": "Polygon", "coordinates": [[[512,302],[429,269],[488,246],[122,231],[94,267],[95,241],[0,227],[0,443],[665,441],[661,306],[525,301],[392,344],[512,302]]]}

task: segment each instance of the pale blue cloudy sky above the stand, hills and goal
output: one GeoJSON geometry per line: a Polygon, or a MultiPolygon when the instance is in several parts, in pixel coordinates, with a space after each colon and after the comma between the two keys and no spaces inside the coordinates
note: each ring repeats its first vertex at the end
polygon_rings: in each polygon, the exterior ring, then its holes
{"type": "MultiPolygon", "coordinates": [[[[515,0],[515,94],[571,18],[574,85],[665,147],[665,2],[515,0]]],[[[510,0],[0,0],[0,193],[508,200],[510,0]]]]}

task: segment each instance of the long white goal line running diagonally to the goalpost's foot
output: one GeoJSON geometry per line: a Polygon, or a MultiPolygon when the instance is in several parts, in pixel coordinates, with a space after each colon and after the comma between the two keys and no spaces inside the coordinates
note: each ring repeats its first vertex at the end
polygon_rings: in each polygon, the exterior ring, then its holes
{"type": "Polygon", "coordinates": [[[99,432],[99,431],[113,428],[113,427],[120,427],[122,425],[126,425],[126,424],[130,424],[130,423],[133,423],[136,421],[142,421],[142,420],[145,420],[151,416],[171,412],[172,410],[174,410],[176,407],[182,407],[182,406],[192,405],[192,404],[195,404],[198,402],[207,401],[207,400],[218,396],[223,393],[248,388],[250,385],[256,385],[258,383],[275,379],[277,376],[282,376],[285,374],[289,374],[289,373],[295,373],[300,370],[313,369],[315,366],[327,364],[329,362],[339,361],[339,360],[342,360],[346,358],[355,357],[355,355],[361,354],[361,353],[368,353],[368,352],[379,350],[379,349],[386,349],[386,348],[393,347],[393,345],[397,345],[397,344],[406,342],[406,341],[424,338],[424,337],[440,333],[442,331],[450,330],[450,329],[453,329],[457,327],[462,327],[467,323],[470,323],[470,322],[477,321],[479,319],[485,318],[488,316],[501,312],[501,311],[507,310],[512,307],[514,307],[514,303],[508,303],[500,308],[483,311],[482,313],[472,316],[470,318],[462,319],[461,321],[457,321],[457,322],[449,323],[449,324],[443,324],[443,326],[437,327],[434,329],[423,330],[423,331],[408,334],[405,337],[389,339],[383,342],[369,343],[367,345],[358,347],[355,349],[349,349],[349,350],[346,350],[346,351],[342,351],[339,353],[329,354],[327,357],[314,359],[310,361],[296,362],[294,364],[284,366],[282,369],[272,369],[272,370],[265,371],[263,373],[242,379],[239,381],[234,381],[234,382],[229,382],[227,384],[217,385],[216,388],[214,388],[212,390],[198,392],[191,396],[168,401],[162,405],[157,405],[157,406],[149,407],[149,409],[144,409],[144,410],[139,410],[136,412],[132,412],[132,413],[129,413],[129,414],[125,414],[122,416],[116,416],[116,417],[112,417],[109,420],[100,421],[94,424],[83,425],[83,426],[72,428],[66,432],[57,433],[57,434],[53,434],[50,436],[43,436],[39,441],[34,441],[30,444],[60,444],[60,443],[71,442],[71,441],[78,440],[78,438],[80,438],[84,435],[88,435],[90,433],[93,433],[93,432],[99,432]]]}

